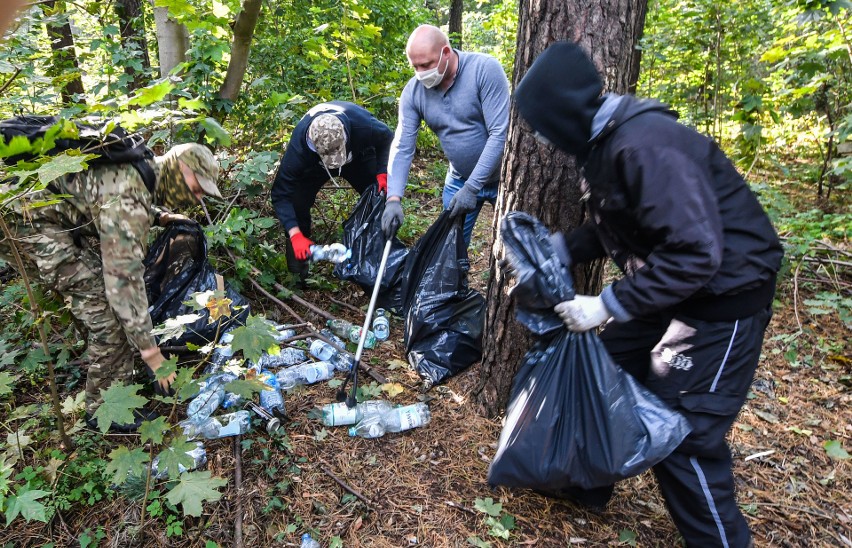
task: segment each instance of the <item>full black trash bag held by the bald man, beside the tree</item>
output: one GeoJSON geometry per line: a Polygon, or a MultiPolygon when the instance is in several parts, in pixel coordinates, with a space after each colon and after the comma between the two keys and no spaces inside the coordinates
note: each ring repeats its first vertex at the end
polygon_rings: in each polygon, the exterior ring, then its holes
{"type": "Polygon", "coordinates": [[[467,285],[463,220],[442,213],[405,264],[405,351],[427,388],[482,358],[485,298],[467,285]]]}

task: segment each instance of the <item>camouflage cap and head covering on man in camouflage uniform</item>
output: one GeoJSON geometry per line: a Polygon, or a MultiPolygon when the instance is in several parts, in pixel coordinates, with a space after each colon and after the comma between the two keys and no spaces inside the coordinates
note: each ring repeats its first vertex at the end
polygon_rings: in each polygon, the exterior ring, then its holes
{"type": "Polygon", "coordinates": [[[198,199],[187,186],[180,170],[181,161],[195,173],[205,194],[221,198],[215,183],[219,166],[213,154],[203,145],[186,143],[172,147],[157,158],[160,173],[154,199],[156,204],[172,211],[198,204],[198,199]]]}

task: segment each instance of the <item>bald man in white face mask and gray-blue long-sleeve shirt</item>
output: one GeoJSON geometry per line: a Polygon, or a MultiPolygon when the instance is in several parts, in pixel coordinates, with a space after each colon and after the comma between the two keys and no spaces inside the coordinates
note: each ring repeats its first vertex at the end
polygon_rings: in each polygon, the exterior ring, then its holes
{"type": "Polygon", "coordinates": [[[400,201],[425,120],[450,161],[444,208],[452,217],[466,215],[464,239],[470,245],[482,205],[493,205],[497,198],[509,126],[509,81],[495,58],[451,48],[447,35],[432,25],[411,33],[405,53],[415,72],[399,99],[382,228],[390,238],[402,224],[400,201]]]}

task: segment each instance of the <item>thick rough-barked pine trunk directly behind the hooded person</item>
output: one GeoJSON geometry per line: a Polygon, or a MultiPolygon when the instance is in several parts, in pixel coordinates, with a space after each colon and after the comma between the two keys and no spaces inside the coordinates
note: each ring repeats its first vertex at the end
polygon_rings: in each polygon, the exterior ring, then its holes
{"type": "MultiPolygon", "coordinates": [[[[521,81],[533,60],[552,42],[579,42],[605,80],[606,91],[625,93],[635,87],[639,57],[635,55],[645,23],[647,0],[596,2],[540,0],[521,2],[513,82],[521,81]]],[[[514,303],[506,295],[509,280],[496,268],[504,257],[500,219],[513,210],[535,215],[550,230],[568,232],[584,220],[580,173],[572,156],[541,145],[513,108],[497,196],[491,279],[485,319],[484,355],[474,396],[491,417],[506,405],[512,379],[531,345],[529,332],[515,321],[514,303]]],[[[575,269],[578,293],[600,291],[603,264],[575,269]]]]}

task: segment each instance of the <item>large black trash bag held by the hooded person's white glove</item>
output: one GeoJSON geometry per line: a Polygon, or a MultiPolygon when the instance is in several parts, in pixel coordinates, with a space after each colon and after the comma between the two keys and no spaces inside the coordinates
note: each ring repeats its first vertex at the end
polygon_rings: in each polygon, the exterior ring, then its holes
{"type": "MultiPolygon", "coordinates": [[[[567,271],[559,273],[548,256],[544,233],[527,214],[509,213],[503,221],[507,256],[518,260],[511,267],[525,276],[513,289],[516,299],[553,303],[573,295],[567,271]],[[535,269],[539,259],[542,270],[527,275],[524,269],[535,269]]],[[[539,304],[517,300],[516,306],[537,328],[552,323],[539,304]]],[[[488,483],[557,496],[571,487],[611,485],[666,458],[690,430],[683,416],[612,361],[595,333],[552,330],[527,352],[515,376],[488,483]]]]}

